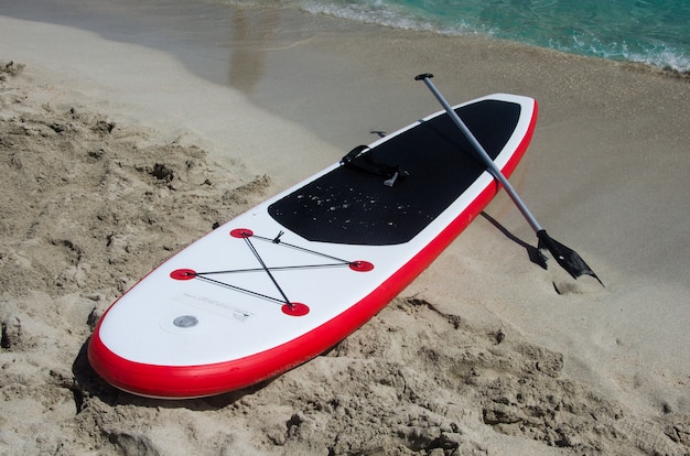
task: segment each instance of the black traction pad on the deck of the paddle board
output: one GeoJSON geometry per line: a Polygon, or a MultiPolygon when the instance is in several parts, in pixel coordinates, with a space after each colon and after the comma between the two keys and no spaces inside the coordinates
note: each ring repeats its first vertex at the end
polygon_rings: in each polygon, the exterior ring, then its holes
{"type": "MultiPolygon", "coordinates": [[[[481,100],[456,109],[492,159],[515,131],[520,105],[481,100]]],[[[373,148],[377,161],[409,173],[392,186],[346,166],[310,182],[269,206],[279,224],[310,240],[387,246],[408,242],[486,171],[446,113],[373,148]]]]}

